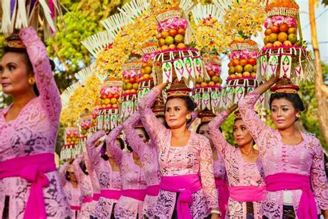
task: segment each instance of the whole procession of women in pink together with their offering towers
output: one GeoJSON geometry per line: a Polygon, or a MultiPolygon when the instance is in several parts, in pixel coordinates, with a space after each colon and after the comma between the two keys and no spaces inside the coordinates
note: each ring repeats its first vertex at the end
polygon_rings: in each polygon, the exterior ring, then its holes
{"type": "Polygon", "coordinates": [[[1,8],[1,218],[328,218],[325,152],[298,125],[317,72],[294,0],[128,1],[75,36],[93,64],[62,94],[42,40],[60,2],[1,8]]]}

